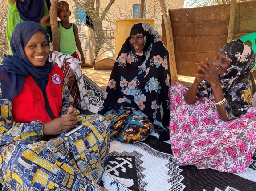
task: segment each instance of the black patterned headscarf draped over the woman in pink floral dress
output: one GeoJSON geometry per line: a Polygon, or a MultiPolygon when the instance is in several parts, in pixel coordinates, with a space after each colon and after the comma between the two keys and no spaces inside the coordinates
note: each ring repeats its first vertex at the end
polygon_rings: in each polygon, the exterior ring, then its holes
{"type": "MultiPolygon", "coordinates": [[[[230,66],[219,77],[224,97],[227,100],[226,112],[229,119],[240,117],[252,106],[252,95],[255,93],[255,78],[250,72],[255,66],[255,54],[248,44],[234,39],[220,50],[229,61],[230,66]]],[[[213,97],[211,85],[203,80],[198,87],[197,97],[213,97]]]]}

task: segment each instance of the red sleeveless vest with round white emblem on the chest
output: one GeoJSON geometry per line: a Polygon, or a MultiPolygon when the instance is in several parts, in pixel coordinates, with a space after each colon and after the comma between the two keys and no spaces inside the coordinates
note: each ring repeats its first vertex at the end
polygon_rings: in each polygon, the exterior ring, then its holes
{"type": "Polygon", "coordinates": [[[54,65],[49,74],[44,97],[43,92],[33,78],[31,76],[26,77],[20,94],[12,99],[13,121],[30,123],[33,120],[39,120],[47,123],[54,117],[60,117],[63,79],[64,75],[61,68],[54,65]],[[49,104],[47,104],[47,101],[49,104]],[[47,106],[49,107],[47,108],[47,106]]]}

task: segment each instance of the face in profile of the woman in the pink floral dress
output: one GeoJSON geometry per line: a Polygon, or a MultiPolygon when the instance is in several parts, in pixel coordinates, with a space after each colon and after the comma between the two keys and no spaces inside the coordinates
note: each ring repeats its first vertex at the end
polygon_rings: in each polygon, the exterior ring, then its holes
{"type": "Polygon", "coordinates": [[[215,63],[215,68],[218,72],[219,76],[223,76],[223,74],[226,72],[228,67],[231,64],[231,61],[228,60],[228,58],[223,55],[221,52],[218,52],[217,58],[214,61],[215,63]]]}

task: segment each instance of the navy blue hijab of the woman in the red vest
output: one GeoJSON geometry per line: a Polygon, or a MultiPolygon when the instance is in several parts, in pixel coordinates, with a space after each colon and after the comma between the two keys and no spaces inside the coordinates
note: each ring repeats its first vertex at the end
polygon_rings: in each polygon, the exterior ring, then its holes
{"type": "Polygon", "coordinates": [[[53,63],[46,61],[44,66],[34,66],[29,62],[24,52],[24,47],[38,30],[41,30],[49,46],[49,37],[38,23],[24,21],[16,25],[12,33],[11,49],[13,56],[4,57],[0,67],[0,81],[2,88],[2,98],[12,99],[20,94],[25,83],[25,77],[31,75],[40,86],[45,90],[48,82],[48,75],[53,69],[53,63]]]}

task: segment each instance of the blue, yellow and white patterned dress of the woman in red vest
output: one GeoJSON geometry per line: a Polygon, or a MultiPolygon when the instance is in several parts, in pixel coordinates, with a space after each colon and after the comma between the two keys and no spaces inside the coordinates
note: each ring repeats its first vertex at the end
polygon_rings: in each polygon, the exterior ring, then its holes
{"type": "MultiPolygon", "coordinates": [[[[71,96],[63,85],[60,115],[67,112],[71,96]]],[[[0,88],[0,94],[1,94],[0,88]]],[[[75,110],[75,109],[74,109],[75,110]]],[[[41,141],[43,123],[12,121],[12,100],[0,99],[0,183],[12,190],[103,191],[97,183],[107,164],[109,124],[100,115],[77,117],[83,125],[65,138],[41,141]]]]}

